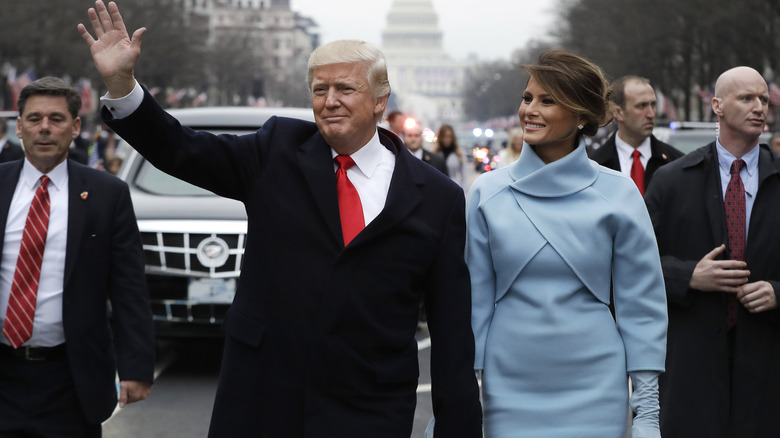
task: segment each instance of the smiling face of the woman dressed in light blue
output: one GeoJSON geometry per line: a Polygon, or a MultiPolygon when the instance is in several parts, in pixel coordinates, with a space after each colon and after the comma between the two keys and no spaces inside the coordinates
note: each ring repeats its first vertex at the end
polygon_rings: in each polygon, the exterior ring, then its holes
{"type": "Polygon", "coordinates": [[[526,143],[568,151],[574,146],[580,118],[555,102],[534,78],[525,87],[518,114],[526,143]]]}

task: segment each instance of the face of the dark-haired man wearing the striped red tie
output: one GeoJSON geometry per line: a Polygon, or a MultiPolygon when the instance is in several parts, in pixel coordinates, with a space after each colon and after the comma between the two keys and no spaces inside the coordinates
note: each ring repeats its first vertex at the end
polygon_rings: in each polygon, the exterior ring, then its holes
{"type": "Polygon", "coordinates": [[[65,160],[80,130],[81,119],[71,117],[63,96],[30,96],[16,122],[27,160],[43,173],[65,160]]]}

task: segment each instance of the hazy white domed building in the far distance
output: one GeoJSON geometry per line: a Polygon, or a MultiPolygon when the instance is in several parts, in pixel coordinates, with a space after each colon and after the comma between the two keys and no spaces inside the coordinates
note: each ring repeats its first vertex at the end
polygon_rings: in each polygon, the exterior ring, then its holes
{"type": "Polygon", "coordinates": [[[388,110],[423,123],[463,118],[462,89],[472,62],[450,58],[431,0],[394,0],[382,32],[382,50],[392,88],[388,110]]]}

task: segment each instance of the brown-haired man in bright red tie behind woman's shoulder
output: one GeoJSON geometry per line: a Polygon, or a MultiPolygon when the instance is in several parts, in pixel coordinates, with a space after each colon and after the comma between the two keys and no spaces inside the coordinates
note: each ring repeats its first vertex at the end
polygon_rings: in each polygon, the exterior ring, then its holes
{"type": "Polygon", "coordinates": [[[600,148],[589,151],[590,158],[610,169],[630,176],[633,150],[641,153],[645,188],[655,171],[684,154],[653,136],[655,91],[640,76],[623,76],[612,83],[612,103],[618,129],[600,148]]]}

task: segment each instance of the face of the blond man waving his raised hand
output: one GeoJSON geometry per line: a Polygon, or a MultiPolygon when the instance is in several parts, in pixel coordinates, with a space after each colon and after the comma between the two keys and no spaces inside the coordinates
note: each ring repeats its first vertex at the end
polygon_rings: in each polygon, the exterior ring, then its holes
{"type": "Polygon", "coordinates": [[[365,65],[354,62],[315,67],[311,88],[317,128],[336,152],[352,154],[371,140],[388,96],[373,96],[365,65]]]}

